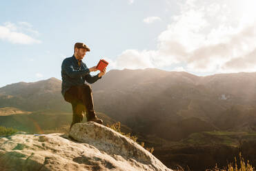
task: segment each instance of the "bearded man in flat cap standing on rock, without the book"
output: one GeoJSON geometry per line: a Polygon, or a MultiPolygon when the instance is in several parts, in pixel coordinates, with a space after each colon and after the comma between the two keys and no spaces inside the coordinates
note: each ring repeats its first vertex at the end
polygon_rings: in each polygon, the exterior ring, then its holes
{"type": "Polygon", "coordinates": [[[95,121],[102,124],[93,107],[92,88],[89,84],[95,83],[106,73],[106,68],[95,76],[91,76],[90,72],[97,71],[96,66],[87,68],[86,63],[82,59],[90,52],[90,49],[84,43],[75,43],[74,54],[63,60],[61,64],[61,94],[65,101],[72,105],[72,125],[83,121],[84,111],[86,110],[87,121],[95,121]]]}

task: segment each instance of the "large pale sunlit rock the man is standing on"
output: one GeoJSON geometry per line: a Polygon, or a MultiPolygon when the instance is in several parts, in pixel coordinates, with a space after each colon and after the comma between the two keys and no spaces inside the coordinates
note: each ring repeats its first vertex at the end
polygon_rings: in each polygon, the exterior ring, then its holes
{"type": "Polygon", "coordinates": [[[66,134],[0,137],[0,170],[170,170],[131,139],[95,122],[66,134]]]}

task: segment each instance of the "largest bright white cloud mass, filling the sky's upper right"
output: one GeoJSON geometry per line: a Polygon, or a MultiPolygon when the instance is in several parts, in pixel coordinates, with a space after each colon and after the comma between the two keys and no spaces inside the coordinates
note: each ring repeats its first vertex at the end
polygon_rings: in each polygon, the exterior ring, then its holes
{"type": "Polygon", "coordinates": [[[256,71],[255,6],[254,0],[188,0],[159,34],[157,50],[126,50],[115,62],[120,68],[185,63],[190,72],[256,71]]]}

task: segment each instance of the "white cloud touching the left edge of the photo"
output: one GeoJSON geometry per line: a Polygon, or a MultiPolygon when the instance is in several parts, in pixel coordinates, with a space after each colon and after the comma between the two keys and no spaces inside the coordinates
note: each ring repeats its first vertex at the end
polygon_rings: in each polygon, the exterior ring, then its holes
{"type": "Polygon", "coordinates": [[[10,43],[19,44],[41,43],[41,41],[21,32],[22,30],[28,30],[30,32],[38,34],[37,31],[32,30],[31,28],[17,26],[14,23],[6,22],[3,24],[3,26],[0,26],[0,39],[2,39],[3,41],[9,41],[10,43]]]}

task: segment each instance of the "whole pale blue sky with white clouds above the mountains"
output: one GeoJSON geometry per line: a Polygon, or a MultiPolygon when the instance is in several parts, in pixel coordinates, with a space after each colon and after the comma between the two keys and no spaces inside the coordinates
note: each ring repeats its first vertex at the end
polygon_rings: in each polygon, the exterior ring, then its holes
{"type": "Polygon", "coordinates": [[[105,59],[107,72],[255,72],[255,6],[255,0],[3,1],[0,87],[61,80],[61,63],[76,42],[90,48],[83,58],[88,68],[105,59]]]}

